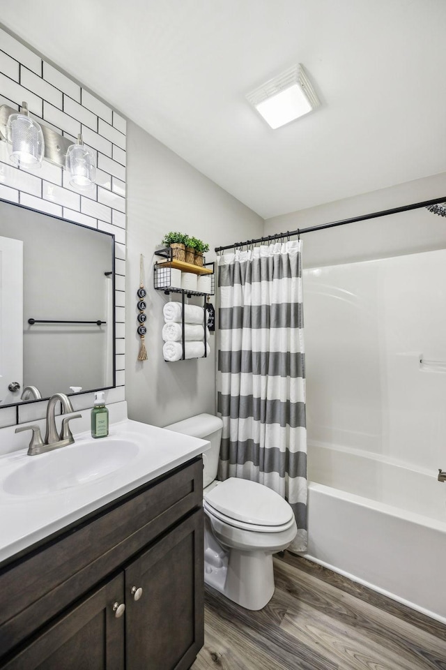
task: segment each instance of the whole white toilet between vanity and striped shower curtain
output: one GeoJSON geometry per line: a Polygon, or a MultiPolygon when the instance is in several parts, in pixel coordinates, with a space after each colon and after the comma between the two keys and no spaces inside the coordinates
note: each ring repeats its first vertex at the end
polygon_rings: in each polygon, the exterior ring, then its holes
{"type": "Polygon", "coordinates": [[[293,541],[293,510],[263,484],[231,477],[218,482],[222,419],[200,414],[165,426],[210,442],[203,454],[204,581],[251,610],[274,593],[272,554],[293,541]]]}

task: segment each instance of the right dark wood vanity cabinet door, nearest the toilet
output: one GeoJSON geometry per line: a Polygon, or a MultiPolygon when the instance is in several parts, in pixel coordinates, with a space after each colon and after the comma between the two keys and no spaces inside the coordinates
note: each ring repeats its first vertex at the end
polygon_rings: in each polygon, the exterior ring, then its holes
{"type": "Polygon", "coordinates": [[[203,590],[199,509],[125,570],[127,670],[190,668],[203,646],[203,590]]]}

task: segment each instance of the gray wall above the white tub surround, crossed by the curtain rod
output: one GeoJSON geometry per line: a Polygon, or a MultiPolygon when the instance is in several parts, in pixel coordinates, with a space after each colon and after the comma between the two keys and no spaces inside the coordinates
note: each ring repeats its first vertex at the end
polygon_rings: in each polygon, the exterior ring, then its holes
{"type": "MultiPolygon", "coordinates": [[[[446,199],[446,172],[269,218],[265,234],[321,225],[433,198],[446,199]]],[[[446,246],[446,218],[425,209],[302,235],[305,267],[336,265],[446,246]]]]}

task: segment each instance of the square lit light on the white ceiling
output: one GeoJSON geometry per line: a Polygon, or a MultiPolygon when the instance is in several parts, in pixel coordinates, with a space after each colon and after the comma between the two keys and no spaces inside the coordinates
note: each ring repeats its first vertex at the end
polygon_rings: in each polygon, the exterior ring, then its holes
{"type": "Polygon", "coordinates": [[[301,65],[270,79],[246,97],[271,128],[289,124],[321,105],[301,65]]]}

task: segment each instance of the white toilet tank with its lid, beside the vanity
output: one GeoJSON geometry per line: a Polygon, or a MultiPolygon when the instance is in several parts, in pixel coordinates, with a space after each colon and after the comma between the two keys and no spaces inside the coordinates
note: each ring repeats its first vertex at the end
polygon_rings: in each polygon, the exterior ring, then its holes
{"type": "Polygon", "coordinates": [[[203,454],[203,489],[217,477],[220,441],[222,440],[223,422],[212,414],[197,414],[195,417],[178,421],[176,424],[164,426],[168,431],[191,435],[210,442],[210,449],[203,454]]]}

